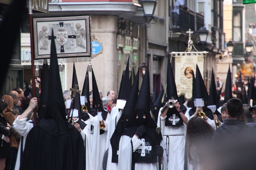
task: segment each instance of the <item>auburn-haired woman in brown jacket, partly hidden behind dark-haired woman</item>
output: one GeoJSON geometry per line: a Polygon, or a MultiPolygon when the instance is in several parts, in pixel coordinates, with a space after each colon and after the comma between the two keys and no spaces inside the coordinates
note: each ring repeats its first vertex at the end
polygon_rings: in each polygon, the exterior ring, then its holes
{"type": "MultiPolygon", "coordinates": [[[[13,107],[13,98],[9,95],[3,95],[2,100],[7,103],[6,112],[3,112],[3,117],[6,119],[6,122],[9,123],[11,126],[15,120],[15,116],[12,113],[13,107]]],[[[5,167],[6,169],[11,169],[12,158],[14,155],[15,148],[17,148],[18,138],[17,138],[17,131],[13,130],[11,133],[10,143],[11,143],[11,157],[6,158],[5,167]]]]}

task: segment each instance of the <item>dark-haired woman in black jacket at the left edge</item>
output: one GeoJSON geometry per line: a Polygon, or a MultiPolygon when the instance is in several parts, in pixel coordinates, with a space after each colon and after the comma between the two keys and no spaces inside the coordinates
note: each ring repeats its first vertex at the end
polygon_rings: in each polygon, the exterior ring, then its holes
{"type": "Polygon", "coordinates": [[[11,137],[11,132],[13,131],[13,128],[6,122],[5,118],[2,116],[3,112],[6,112],[6,108],[7,103],[3,100],[0,100],[0,133],[3,134],[0,145],[0,170],[5,169],[5,160],[6,158],[9,158],[11,156],[11,143],[9,137],[11,137]]]}

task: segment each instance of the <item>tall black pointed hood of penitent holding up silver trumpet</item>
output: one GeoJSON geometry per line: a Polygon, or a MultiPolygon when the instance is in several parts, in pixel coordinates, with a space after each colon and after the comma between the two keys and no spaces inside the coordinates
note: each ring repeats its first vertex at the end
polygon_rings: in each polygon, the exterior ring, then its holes
{"type": "Polygon", "coordinates": [[[171,97],[174,97],[175,100],[178,100],[179,104],[181,105],[181,110],[185,114],[187,108],[179,101],[179,97],[177,94],[177,87],[174,79],[173,69],[171,67],[170,58],[168,57],[168,63],[167,63],[167,79],[166,79],[166,93],[167,93],[167,100],[171,99],[171,97]]]}

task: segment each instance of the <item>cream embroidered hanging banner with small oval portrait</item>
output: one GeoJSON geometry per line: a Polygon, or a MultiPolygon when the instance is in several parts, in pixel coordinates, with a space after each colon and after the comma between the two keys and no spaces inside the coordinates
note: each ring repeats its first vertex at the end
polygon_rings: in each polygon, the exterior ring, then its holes
{"type": "Polygon", "coordinates": [[[178,96],[184,95],[185,99],[192,99],[193,75],[196,75],[196,65],[202,74],[204,69],[204,57],[208,52],[172,52],[175,57],[175,83],[178,96]]]}

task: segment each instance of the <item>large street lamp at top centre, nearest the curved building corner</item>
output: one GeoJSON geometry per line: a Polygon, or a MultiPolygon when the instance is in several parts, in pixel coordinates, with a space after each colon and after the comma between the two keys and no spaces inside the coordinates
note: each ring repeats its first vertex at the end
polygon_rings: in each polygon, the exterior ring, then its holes
{"type": "Polygon", "coordinates": [[[155,13],[155,7],[157,6],[157,1],[152,0],[152,1],[141,1],[142,3],[142,8],[143,8],[143,18],[147,21],[150,22],[152,19],[154,19],[154,13],[155,13]]]}

